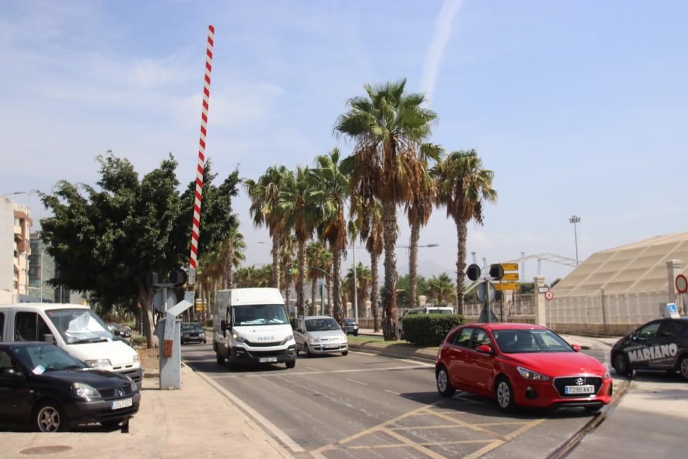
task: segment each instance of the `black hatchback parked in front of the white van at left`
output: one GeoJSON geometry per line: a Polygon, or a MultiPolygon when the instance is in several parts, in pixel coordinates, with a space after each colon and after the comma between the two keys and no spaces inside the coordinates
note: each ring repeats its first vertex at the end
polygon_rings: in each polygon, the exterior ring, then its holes
{"type": "Polygon", "coordinates": [[[0,423],[41,432],[115,427],[138,412],[140,398],[129,376],[89,368],[56,345],[0,343],[0,423]]]}

